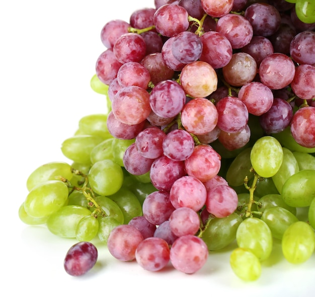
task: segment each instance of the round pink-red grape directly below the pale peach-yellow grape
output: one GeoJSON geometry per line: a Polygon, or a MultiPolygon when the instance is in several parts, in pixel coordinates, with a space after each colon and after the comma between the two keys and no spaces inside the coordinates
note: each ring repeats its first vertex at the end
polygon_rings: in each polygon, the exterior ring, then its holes
{"type": "Polygon", "coordinates": [[[195,98],[183,107],[181,121],[188,132],[202,135],[209,133],[216,127],[218,112],[210,100],[195,98]]]}

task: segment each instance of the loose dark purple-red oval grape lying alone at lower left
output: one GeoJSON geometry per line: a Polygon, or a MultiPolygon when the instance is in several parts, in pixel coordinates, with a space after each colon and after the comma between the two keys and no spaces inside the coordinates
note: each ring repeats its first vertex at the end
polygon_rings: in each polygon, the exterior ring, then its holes
{"type": "Polygon", "coordinates": [[[80,276],[90,271],[98,259],[98,250],[90,242],[78,242],[67,251],[63,266],[72,276],[80,276]]]}

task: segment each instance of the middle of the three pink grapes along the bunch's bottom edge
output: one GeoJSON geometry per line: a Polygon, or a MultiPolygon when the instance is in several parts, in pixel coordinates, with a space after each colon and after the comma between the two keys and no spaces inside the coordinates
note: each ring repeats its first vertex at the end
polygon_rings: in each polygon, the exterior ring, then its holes
{"type": "Polygon", "coordinates": [[[159,271],[170,262],[170,247],[162,238],[146,238],[137,246],[135,259],[143,269],[159,271]]]}

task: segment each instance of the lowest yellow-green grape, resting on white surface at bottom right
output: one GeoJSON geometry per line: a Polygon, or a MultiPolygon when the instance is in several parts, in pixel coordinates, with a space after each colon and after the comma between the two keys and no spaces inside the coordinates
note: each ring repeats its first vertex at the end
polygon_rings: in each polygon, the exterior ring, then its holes
{"type": "Polygon", "coordinates": [[[235,275],[245,281],[254,281],[261,276],[261,263],[249,249],[234,249],[230,255],[229,263],[235,275]]]}

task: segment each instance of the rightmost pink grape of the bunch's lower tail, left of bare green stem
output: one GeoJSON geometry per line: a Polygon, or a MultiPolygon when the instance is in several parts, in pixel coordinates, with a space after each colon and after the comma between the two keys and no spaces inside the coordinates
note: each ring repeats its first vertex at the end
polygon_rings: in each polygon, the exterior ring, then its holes
{"type": "Polygon", "coordinates": [[[230,215],[238,207],[238,194],[233,188],[219,185],[207,191],[207,211],[216,217],[230,215]]]}

